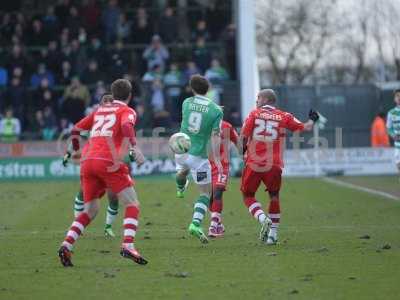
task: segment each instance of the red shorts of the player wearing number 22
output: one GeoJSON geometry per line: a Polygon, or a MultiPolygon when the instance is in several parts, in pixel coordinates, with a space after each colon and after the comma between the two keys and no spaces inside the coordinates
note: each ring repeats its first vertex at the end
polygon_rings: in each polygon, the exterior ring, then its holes
{"type": "Polygon", "coordinates": [[[118,194],[133,185],[127,165],[120,164],[116,169],[111,161],[88,159],[81,163],[81,185],[83,201],[90,202],[101,198],[106,189],[118,194]]]}

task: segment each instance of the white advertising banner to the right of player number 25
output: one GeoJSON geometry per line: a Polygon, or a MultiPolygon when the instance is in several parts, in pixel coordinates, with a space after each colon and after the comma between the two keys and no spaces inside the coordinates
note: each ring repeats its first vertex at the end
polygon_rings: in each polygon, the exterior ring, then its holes
{"type": "Polygon", "coordinates": [[[397,174],[394,148],[286,150],[284,175],[389,175],[397,174]]]}

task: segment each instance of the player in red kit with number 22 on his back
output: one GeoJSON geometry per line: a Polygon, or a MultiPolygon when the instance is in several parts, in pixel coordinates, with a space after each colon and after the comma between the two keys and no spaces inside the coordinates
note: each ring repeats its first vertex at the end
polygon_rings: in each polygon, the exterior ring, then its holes
{"type": "Polygon", "coordinates": [[[114,101],[101,105],[97,110],[75,124],[71,133],[74,153],[79,157],[79,132],[89,130],[90,137],[81,155],[81,186],[83,188],[84,211],[72,223],[58,252],[63,266],[72,266],[73,244],[85,227],[95,218],[100,198],[110,189],[125,207],[124,237],[121,256],[138,264],[146,264],[135,249],[134,238],[138,226],[139,201],[128,167],[123,157],[128,152],[135,157],[138,165],[144,157],[136,146],[134,125],[135,111],[128,106],[132,97],[132,86],[128,80],[118,79],[111,85],[114,101]]]}

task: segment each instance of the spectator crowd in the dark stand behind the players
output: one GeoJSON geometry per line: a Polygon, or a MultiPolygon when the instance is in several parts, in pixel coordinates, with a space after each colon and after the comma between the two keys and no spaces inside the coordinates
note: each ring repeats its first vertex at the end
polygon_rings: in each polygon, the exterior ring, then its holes
{"type": "Polygon", "coordinates": [[[193,74],[210,80],[209,97],[221,103],[224,82],[236,79],[231,1],[177,2],[60,0],[33,13],[0,11],[2,141],[55,139],[116,78],[133,82],[141,128],[180,121],[193,74]]]}

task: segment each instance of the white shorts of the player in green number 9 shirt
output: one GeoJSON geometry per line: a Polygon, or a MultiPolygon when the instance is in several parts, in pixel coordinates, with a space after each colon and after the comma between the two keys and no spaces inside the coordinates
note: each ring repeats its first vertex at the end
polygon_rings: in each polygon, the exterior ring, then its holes
{"type": "Polygon", "coordinates": [[[211,183],[211,165],[208,159],[191,154],[175,154],[176,170],[190,170],[196,184],[211,183]]]}

